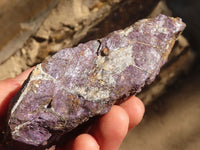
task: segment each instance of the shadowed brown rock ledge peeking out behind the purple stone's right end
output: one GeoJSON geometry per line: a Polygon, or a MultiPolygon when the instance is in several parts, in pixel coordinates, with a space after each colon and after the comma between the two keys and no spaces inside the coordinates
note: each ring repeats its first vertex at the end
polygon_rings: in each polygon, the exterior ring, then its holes
{"type": "MultiPolygon", "coordinates": [[[[172,12],[166,6],[166,3],[160,1],[149,17],[152,18],[157,16],[157,14],[163,13],[167,16],[172,16],[172,12]]],[[[167,63],[160,70],[156,80],[152,84],[145,86],[136,96],[143,101],[145,106],[157,100],[164,93],[168,92],[168,87],[173,86],[181,75],[188,73],[195,59],[195,53],[192,51],[187,39],[179,36],[168,57],[167,63]]]]}

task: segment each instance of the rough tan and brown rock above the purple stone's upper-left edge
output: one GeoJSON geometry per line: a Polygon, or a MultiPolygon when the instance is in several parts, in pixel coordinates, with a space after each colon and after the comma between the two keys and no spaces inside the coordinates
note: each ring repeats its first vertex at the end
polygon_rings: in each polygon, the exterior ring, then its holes
{"type": "Polygon", "coordinates": [[[15,77],[63,47],[102,38],[145,18],[159,0],[40,1],[0,1],[0,80],[15,77]],[[105,25],[93,28],[103,20],[105,25]]]}

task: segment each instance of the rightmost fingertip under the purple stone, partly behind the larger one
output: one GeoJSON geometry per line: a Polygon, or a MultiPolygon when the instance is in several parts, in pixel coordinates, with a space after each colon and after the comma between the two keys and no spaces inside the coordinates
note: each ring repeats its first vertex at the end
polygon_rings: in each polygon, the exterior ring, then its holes
{"type": "Polygon", "coordinates": [[[120,106],[129,116],[129,130],[140,123],[143,118],[145,108],[143,102],[139,98],[131,96],[120,104],[120,106]]]}

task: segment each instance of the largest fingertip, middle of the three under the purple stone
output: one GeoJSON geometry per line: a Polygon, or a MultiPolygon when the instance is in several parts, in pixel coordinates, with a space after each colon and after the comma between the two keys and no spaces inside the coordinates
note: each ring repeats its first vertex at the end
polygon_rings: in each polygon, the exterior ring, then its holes
{"type": "Polygon", "coordinates": [[[123,108],[115,105],[109,113],[99,119],[91,134],[98,141],[101,150],[118,150],[127,134],[128,125],[128,114],[123,108]]]}

